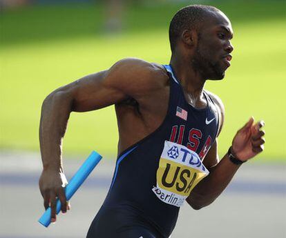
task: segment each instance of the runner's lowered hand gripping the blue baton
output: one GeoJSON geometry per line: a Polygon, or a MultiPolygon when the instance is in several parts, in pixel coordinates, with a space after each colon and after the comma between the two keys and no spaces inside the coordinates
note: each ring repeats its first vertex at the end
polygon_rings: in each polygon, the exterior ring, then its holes
{"type": "Polygon", "coordinates": [[[44,169],[39,179],[39,188],[44,198],[44,207],[47,210],[50,206],[52,210],[51,222],[56,221],[57,198],[61,201],[61,212],[64,214],[66,210],[70,210],[70,203],[66,201],[64,188],[68,184],[64,172],[54,169],[44,169]]]}

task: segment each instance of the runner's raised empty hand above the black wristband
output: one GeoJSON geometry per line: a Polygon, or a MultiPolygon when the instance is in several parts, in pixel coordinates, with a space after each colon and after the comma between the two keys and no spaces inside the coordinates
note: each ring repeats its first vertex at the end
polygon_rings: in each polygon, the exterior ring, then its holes
{"type": "Polygon", "coordinates": [[[265,132],[261,130],[264,125],[264,121],[254,124],[254,118],[251,117],[245,126],[238,130],[232,141],[232,152],[236,158],[247,161],[264,150],[265,132]]]}

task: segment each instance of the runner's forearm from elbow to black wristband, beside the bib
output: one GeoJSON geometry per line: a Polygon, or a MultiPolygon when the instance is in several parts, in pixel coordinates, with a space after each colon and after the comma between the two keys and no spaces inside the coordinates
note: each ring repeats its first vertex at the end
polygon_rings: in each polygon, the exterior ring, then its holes
{"type": "Polygon", "coordinates": [[[187,202],[196,210],[211,204],[227,188],[239,167],[225,155],[215,167],[211,168],[209,175],[193,188],[187,202]]]}

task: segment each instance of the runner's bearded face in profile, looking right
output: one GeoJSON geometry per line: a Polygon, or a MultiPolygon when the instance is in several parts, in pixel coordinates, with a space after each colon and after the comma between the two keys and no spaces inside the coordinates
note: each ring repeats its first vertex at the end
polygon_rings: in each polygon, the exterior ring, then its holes
{"type": "Polygon", "coordinates": [[[220,80],[225,77],[233,50],[230,43],[232,37],[231,23],[222,12],[214,12],[203,23],[192,63],[205,79],[220,80]]]}

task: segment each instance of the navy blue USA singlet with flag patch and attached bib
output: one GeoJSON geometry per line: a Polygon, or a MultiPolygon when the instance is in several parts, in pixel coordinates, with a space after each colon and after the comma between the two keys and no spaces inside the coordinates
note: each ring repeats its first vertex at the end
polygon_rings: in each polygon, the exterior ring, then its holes
{"type": "Polygon", "coordinates": [[[117,158],[108,195],[88,238],[169,237],[180,206],[208,175],[204,156],[218,135],[218,108],[187,103],[171,66],[169,108],[161,126],[117,158]]]}

